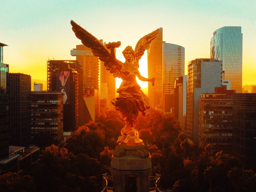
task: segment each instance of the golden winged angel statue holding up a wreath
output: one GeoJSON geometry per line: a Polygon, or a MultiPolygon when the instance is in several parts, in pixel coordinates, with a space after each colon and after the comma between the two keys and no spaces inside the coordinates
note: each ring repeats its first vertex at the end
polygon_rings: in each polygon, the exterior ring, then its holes
{"type": "Polygon", "coordinates": [[[157,29],[141,38],[135,50],[131,46],[127,46],[122,52],[125,57],[125,62],[122,63],[116,59],[114,52],[114,49],[120,46],[120,41],[102,44],[73,20],[71,20],[71,25],[73,26],[72,30],[77,38],[81,40],[82,44],[91,48],[92,53],[104,62],[106,69],[114,77],[123,80],[116,91],[119,93],[119,96],[112,100],[116,110],[121,112],[121,120],[125,121],[125,126],[121,130],[121,137],[118,138],[117,142],[127,145],[142,144],[142,140],[136,136],[134,128],[139,111],[144,116],[145,111],[150,108],[150,102],[137,83],[136,76],[139,80],[151,81],[154,86],[155,78],[147,79],[142,77],[138,68],[139,59],[144,54],[144,51],[149,48],[152,40],[156,38],[159,30],[157,29]]]}

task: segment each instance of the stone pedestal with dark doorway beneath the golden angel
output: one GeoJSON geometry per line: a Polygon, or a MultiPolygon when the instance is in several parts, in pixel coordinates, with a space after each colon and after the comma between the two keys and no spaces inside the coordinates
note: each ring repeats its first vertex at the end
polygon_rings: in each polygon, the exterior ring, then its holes
{"type": "Polygon", "coordinates": [[[113,192],[149,192],[150,169],[147,146],[116,146],[111,161],[113,192]]]}

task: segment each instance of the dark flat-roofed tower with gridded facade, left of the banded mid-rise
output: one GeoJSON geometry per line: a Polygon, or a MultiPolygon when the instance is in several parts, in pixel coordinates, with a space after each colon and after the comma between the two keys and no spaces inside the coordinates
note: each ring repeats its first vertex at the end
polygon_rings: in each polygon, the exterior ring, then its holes
{"type": "Polygon", "coordinates": [[[31,77],[9,73],[10,145],[31,144],[31,77]]]}

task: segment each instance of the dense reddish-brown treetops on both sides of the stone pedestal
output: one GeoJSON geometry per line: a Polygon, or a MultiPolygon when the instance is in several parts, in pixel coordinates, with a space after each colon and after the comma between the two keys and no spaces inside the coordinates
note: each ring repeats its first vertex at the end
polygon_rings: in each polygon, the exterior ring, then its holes
{"type": "MultiPolygon", "coordinates": [[[[26,171],[0,175],[1,192],[78,192],[101,190],[101,174],[110,174],[116,140],[124,123],[109,110],[74,132],[62,148],[46,147],[26,171]]],[[[148,110],[137,119],[139,137],[149,146],[152,175],[175,192],[253,191],[256,175],[239,159],[214,152],[211,145],[189,144],[173,117],[148,110]]]]}

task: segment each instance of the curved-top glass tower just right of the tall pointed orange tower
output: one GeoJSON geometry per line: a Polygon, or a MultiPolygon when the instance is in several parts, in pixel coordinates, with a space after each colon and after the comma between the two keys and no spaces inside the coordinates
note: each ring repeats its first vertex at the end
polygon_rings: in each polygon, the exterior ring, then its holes
{"type": "Polygon", "coordinates": [[[163,43],[162,94],[163,111],[170,114],[174,107],[174,83],[184,75],[185,48],[171,43],[163,43]]]}

